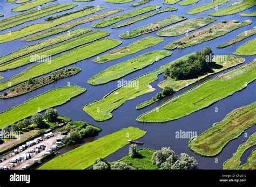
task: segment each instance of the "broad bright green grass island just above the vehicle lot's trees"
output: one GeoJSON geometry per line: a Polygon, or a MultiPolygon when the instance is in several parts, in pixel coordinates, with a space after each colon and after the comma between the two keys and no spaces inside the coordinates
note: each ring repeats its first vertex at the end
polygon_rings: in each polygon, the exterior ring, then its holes
{"type": "Polygon", "coordinates": [[[36,97],[26,100],[24,103],[11,107],[10,109],[0,113],[0,128],[11,125],[24,118],[28,118],[38,112],[38,109],[44,111],[50,107],[63,105],[73,97],[76,97],[86,89],[71,85],[53,89],[42,93],[36,97]]]}

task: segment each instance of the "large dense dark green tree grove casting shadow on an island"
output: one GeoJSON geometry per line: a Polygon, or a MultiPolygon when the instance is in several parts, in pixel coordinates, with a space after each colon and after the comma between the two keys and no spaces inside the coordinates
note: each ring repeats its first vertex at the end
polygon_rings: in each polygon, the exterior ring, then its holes
{"type": "Polygon", "coordinates": [[[175,80],[187,80],[203,75],[211,70],[211,56],[213,56],[212,49],[206,47],[201,52],[190,55],[186,61],[180,60],[171,64],[165,70],[165,77],[171,77],[175,80]]]}

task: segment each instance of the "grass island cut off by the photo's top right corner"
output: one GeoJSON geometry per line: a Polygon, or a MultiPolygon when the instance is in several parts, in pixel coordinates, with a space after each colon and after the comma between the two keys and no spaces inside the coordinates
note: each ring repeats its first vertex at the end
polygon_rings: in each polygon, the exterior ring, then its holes
{"type": "Polygon", "coordinates": [[[235,1],[230,6],[227,6],[224,9],[220,9],[214,12],[209,13],[209,16],[227,16],[233,15],[235,13],[247,10],[252,8],[256,4],[255,0],[244,0],[244,1],[235,1]]]}

